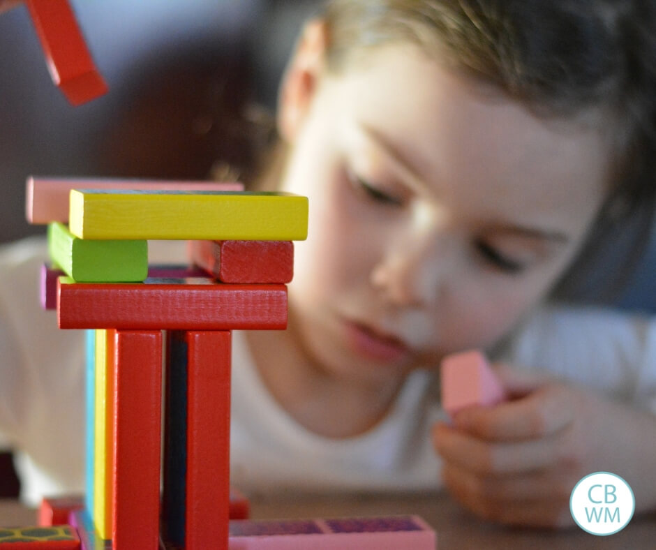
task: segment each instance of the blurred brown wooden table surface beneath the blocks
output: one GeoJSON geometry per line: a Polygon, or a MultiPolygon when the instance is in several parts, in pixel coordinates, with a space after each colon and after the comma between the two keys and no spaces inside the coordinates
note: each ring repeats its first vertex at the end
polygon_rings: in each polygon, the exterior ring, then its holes
{"type": "MultiPolygon", "coordinates": [[[[656,514],[634,518],[620,533],[595,537],[579,528],[565,531],[511,529],[479,521],[445,493],[425,495],[295,496],[251,498],[253,519],[418,514],[438,533],[439,550],[468,549],[656,549],[656,514]]],[[[36,524],[36,514],[15,500],[0,500],[0,526],[36,524]]]]}

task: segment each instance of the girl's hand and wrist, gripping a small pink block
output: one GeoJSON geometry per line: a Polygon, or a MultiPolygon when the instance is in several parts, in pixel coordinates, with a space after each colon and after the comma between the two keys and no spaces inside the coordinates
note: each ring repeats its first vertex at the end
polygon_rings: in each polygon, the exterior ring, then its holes
{"type": "Polygon", "coordinates": [[[604,470],[632,485],[636,503],[644,493],[643,508],[656,505],[656,483],[643,486],[656,461],[653,416],[536,374],[498,373],[510,401],[462,410],[433,429],[456,500],[499,523],[569,526],[574,485],[604,470]]]}

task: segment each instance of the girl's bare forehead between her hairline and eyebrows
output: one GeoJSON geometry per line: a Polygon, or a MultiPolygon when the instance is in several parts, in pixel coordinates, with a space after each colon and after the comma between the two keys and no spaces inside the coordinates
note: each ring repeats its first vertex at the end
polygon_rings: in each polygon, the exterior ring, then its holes
{"type": "Polygon", "coordinates": [[[334,77],[331,116],[429,189],[505,209],[601,202],[609,155],[597,125],[539,117],[411,46],[372,50],[355,67],[334,77]]]}

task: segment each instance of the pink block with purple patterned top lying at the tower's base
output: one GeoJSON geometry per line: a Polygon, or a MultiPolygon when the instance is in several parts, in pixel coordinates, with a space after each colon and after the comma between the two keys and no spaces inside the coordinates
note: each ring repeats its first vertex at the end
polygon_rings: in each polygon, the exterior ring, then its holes
{"type": "Polygon", "coordinates": [[[230,550],[435,550],[418,516],[230,521],[230,550]]]}

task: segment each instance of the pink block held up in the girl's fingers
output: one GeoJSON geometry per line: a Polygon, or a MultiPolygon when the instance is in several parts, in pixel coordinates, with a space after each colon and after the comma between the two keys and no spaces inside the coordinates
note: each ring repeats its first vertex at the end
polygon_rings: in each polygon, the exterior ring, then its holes
{"type": "Polygon", "coordinates": [[[485,356],[476,350],[454,353],[442,359],[442,407],[454,415],[475,406],[504,401],[505,391],[485,356]]]}

